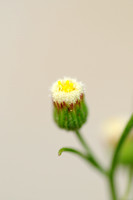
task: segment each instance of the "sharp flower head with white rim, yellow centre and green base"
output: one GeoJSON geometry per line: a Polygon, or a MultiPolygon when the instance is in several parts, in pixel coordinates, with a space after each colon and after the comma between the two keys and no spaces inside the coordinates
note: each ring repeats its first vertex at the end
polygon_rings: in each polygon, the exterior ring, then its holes
{"type": "Polygon", "coordinates": [[[79,129],[88,114],[83,84],[71,78],[60,79],[53,84],[51,93],[58,126],[67,130],[79,129]]]}

